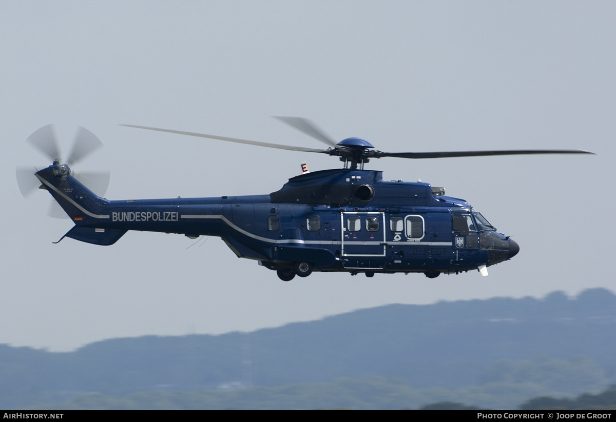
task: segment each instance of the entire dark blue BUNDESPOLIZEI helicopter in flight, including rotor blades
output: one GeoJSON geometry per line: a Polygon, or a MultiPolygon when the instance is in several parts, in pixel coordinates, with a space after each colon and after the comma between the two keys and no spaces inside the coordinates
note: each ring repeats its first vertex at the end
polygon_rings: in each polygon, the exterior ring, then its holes
{"type": "Polygon", "coordinates": [[[510,260],[520,247],[511,237],[498,233],[464,199],[445,196],[444,188],[421,181],[385,181],[382,171],[364,169],[370,159],[593,154],[580,149],[387,153],[362,138],[336,142],[302,117],[277,119],[328,148],[123,126],[328,154],[338,156],[343,168],[309,172],[302,163],[300,175],[270,194],[109,201],[103,197],[108,175],[71,169],[99,148],[100,140],[89,130],[79,128],[73,150],[63,162],[53,127],[47,125],[32,133],[28,142],[52,164],[34,173],[17,169],[17,181],[24,196],[37,186],[49,191],[75,223],[54,243],[70,237],[95,245],[112,245],[129,230],[184,234],[190,239],[216,236],[237,257],[256,260],[276,271],[283,281],[307,277],[314,271],[353,276],[363,273],[367,277],[375,273],[423,273],[432,279],[468,271],[487,276],[489,266],[510,260]]]}

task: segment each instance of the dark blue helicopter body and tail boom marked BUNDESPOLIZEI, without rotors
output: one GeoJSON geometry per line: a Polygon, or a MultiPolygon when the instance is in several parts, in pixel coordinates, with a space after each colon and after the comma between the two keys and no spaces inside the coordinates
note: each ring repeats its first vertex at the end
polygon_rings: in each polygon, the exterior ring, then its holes
{"type": "Polygon", "coordinates": [[[254,196],[108,201],[70,175],[39,180],[75,222],[67,237],[113,244],[128,230],[221,237],[270,269],[459,273],[508,260],[515,242],[462,199],[375,170],[323,170],[254,196]]]}

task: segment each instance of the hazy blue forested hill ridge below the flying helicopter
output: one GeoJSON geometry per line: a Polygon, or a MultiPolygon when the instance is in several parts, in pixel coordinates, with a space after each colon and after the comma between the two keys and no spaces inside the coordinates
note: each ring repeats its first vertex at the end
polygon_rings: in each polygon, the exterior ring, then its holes
{"type": "Polygon", "coordinates": [[[126,396],[371,376],[415,389],[540,381],[578,394],[614,379],[615,350],[616,296],[605,289],[573,300],[555,292],[543,300],[388,305],[251,333],[120,338],[74,352],[0,345],[0,408],[83,392],[126,396]],[[538,371],[553,375],[537,380],[538,371]]]}

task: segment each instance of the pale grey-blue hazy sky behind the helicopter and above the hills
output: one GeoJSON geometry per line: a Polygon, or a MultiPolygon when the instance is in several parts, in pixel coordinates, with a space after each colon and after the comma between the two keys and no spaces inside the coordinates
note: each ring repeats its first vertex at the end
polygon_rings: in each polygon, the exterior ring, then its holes
{"type": "MultiPolygon", "coordinates": [[[[65,351],[120,336],[255,330],[388,303],[616,291],[613,1],[0,2],[0,343],[65,351]],[[323,145],[270,116],[303,116],[382,151],[581,148],[597,156],[372,160],[386,180],[445,186],[521,252],[423,274],[314,273],[282,282],[217,238],[129,232],[64,239],[51,196],[23,199],[15,165],[55,123],[105,148],[108,199],[267,194],[336,157],[121,127],[323,145]],[[205,240],[205,241],[204,241],[205,240]],[[194,245],[193,245],[194,244],[194,245]],[[187,249],[190,245],[190,249],[187,249]]],[[[413,324],[392,321],[392,324],[413,324]]]]}

